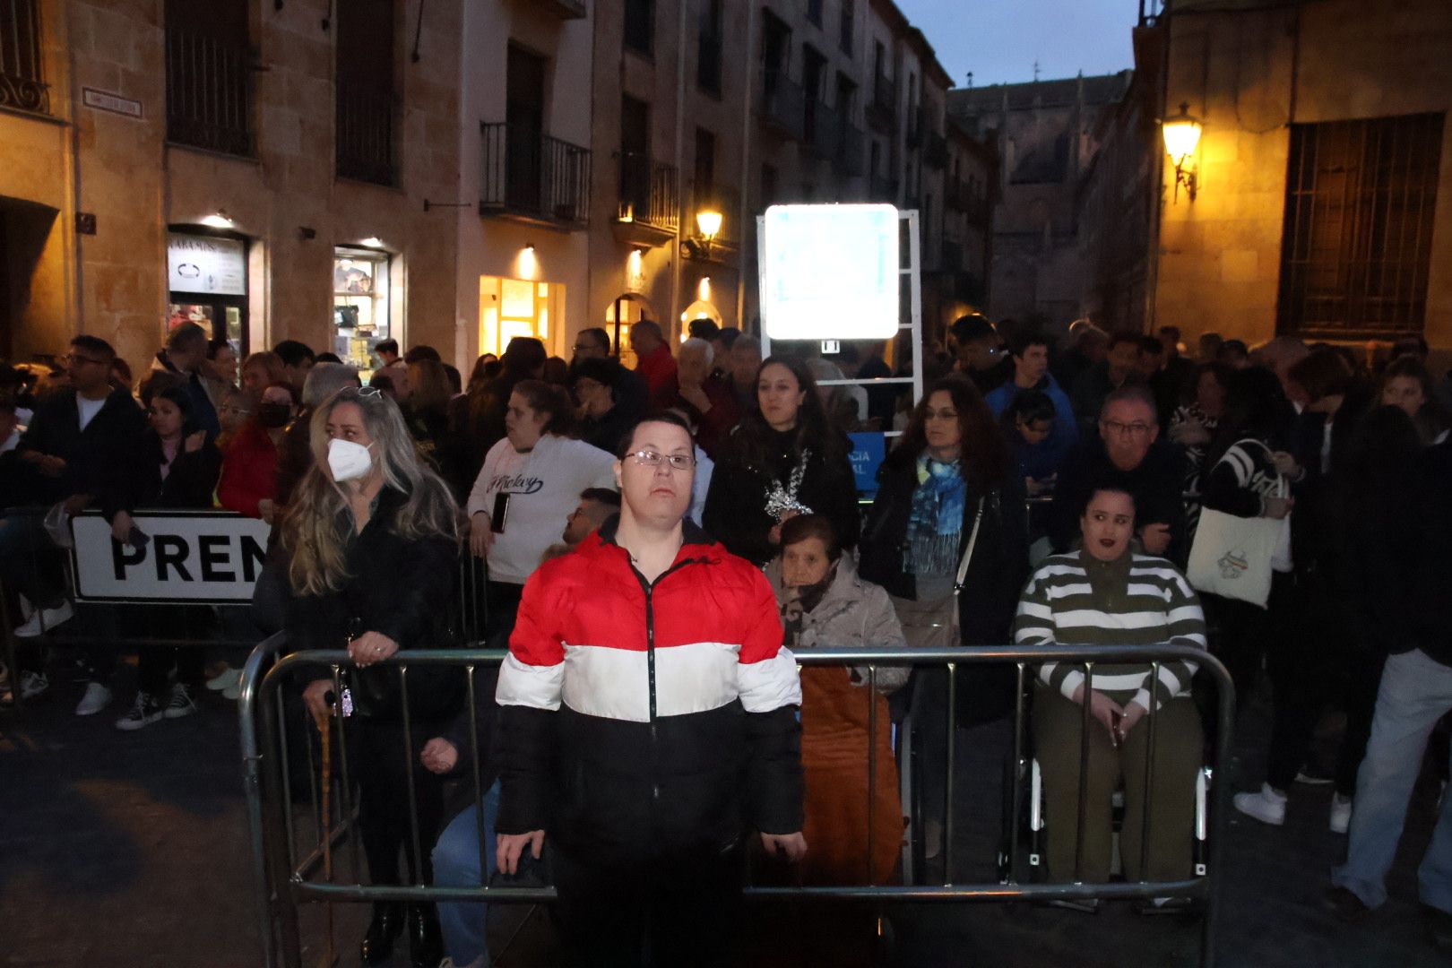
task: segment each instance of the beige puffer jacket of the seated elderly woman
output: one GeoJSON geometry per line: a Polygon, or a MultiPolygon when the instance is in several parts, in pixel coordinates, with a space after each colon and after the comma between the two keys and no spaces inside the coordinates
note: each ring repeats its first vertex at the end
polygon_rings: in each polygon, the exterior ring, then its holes
{"type": "MultiPolygon", "coordinates": [[[[781,582],[781,557],[767,566],[767,581],[777,604],[787,605],[788,589],[781,582]]],[[[906,647],[893,599],[881,585],[857,573],[851,554],[836,563],[836,575],[817,607],[802,615],[799,649],[900,649],[906,647]]],[[[908,682],[908,666],[877,666],[877,691],[893,692],[908,682]]],[[[865,686],[867,666],[852,666],[852,685],[865,686]]]]}

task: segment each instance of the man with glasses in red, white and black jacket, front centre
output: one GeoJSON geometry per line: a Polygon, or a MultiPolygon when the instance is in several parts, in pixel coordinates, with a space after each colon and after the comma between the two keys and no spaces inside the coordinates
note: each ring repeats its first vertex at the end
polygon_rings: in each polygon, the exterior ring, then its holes
{"type": "Polygon", "coordinates": [[[677,415],[626,435],[620,515],[529,579],[499,670],[499,869],[549,833],[576,964],[729,964],[742,832],[806,852],[796,660],[761,572],[682,524],[693,473],[677,415]]]}

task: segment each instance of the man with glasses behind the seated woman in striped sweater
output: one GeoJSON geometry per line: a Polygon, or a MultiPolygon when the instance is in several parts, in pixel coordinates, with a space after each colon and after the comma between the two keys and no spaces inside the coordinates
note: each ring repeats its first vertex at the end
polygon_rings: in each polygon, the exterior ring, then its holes
{"type": "Polygon", "coordinates": [[[1079,514],[1096,483],[1117,480],[1134,496],[1135,538],[1146,554],[1183,563],[1185,451],[1160,437],[1154,395],[1141,385],[1111,392],[1099,409],[1099,434],[1080,441],[1059,470],[1048,521],[1054,551],[1070,550],[1079,514]]]}

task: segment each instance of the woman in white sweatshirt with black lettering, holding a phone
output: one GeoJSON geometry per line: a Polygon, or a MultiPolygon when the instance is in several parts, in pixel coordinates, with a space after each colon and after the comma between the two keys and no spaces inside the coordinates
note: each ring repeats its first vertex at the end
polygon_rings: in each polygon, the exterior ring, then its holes
{"type": "Polygon", "coordinates": [[[568,435],[569,396],[542,380],[510,393],[504,440],[469,492],[469,547],[489,563],[488,639],[508,634],[524,581],[559,540],[559,522],[587,488],[614,488],[614,457],[568,435]]]}

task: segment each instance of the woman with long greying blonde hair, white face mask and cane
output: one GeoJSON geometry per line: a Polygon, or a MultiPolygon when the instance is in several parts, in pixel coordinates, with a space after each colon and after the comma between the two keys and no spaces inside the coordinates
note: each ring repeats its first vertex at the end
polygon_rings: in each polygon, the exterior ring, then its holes
{"type": "MultiPolygon", "coordinates": [[[[346,387],[312,415],[314,466],[293,492],[282,524],[290,601],[289,649],[348,649],[344,714],[359,829],[375,884],[433,878],[428,856],[414,858],[405,762],[439,736],[457,710],[462,678],[443,668],[408,670],[412,739],[404,749],[402,695],[395,669],[373,668],[401,649],[441,647],[450,640],[449,602],[457,575],[457,505],[449,486],[418,457],[398,406],[376,390],[346,387]]],[[[303,701],[317,718],[330,711],[330,679],[317,679],[303,701]]],[[[341,723],[340,723],[341,724],[341,723]]],[[[414,771],[418,843],[430,845],[443,820],[441,781],[414,771]]],[[[363,964],[386,961],[404,929],[404,906],[378,904],[363,939],[363,964]]],[[[409,906],[414,965],[443,958],[431,904],[409,906]]]]}

